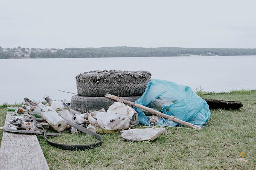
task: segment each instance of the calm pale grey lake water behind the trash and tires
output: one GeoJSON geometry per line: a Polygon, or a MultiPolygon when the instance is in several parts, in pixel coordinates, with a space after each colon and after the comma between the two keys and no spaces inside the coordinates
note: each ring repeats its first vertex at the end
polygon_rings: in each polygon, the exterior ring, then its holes
{"type": "Polygon", "coordinates": [[[0,59],[0,104],[67,99],[76,92],[76,76],[84,71],[151,72],[151,79],[187,85],[194,91],[256,89],[256,56],[191,56],[73,59],[0,59]],[[61,91],[59,91],[61,90],[61,91]]]}

